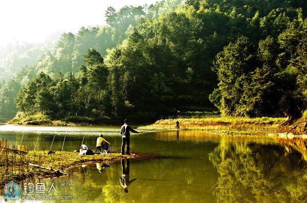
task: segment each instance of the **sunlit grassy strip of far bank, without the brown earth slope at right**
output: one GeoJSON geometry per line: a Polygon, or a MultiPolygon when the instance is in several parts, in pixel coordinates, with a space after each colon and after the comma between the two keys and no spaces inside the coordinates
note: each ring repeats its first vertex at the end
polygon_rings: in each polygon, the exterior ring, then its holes
{"type": "Polygon", "coordinates": [[[177,118],[158,120],[140,129],[176,130],[176,121],[180,130],[202,130],[217,133],[268,133],[276,132],[284,118],[248,118],[206,116],[202,118],[177,118]]]}

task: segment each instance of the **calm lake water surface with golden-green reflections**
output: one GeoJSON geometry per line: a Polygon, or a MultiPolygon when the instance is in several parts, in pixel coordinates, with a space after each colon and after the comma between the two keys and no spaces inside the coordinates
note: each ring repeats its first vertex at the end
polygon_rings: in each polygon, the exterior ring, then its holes
{"type": "MultiPolygon", "coordinates": [[[[119,126],[24,127],[0,126],[0,138],[26,150],[74,150],[84,143],[96,147],[103,133],[115,151],[121,145],[119,126]]],[[[141,130],[140,130],[141,131],[141,130]]],[[[304,202],[307,194],[306,154],[293,143],[268,136],[218,136],[199,131],[143,131],[131,135],[131,151],[159,158],[76,167],[54,182],[57,198],[43,202],[304,202]],[[127,191],[120,177],[129,171],[127,191]],[[63,187],[68,183],[68,187],[63,187]],[[62,185],[62,186],[61,186],[62,185]],[[62,196],[67,195],[67,196],[62,196]]],[[[124,176],[125,176],[124,175],[124,176]]],[[[44,194],[45,195],[45,194],[44,194]]],[[[46,194],[47,195],[47,194],[46,194]]],[[[37,196],[37,194],[36,194],[37,196]]],[[[26,200],[23,200],[26,201],[26,200]]]]}

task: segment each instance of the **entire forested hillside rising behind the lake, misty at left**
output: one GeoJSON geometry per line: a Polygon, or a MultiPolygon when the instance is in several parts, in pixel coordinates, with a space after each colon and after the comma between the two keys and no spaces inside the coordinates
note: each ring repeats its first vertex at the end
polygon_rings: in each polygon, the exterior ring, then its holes
{"type": "Polygon", "coordinates": [[[109,7],[106,26],[64,33],[0,82],[0,119],[158,118],[218,109],[299,117],[307,109],[303,0],[168,0],[109,7]]]}

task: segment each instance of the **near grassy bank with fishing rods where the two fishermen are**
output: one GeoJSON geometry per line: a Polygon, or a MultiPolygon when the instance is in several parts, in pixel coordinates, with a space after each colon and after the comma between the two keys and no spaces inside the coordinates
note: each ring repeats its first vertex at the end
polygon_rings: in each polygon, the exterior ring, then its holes
{"type": "Polygon", "coordinates": [[[117,162],[122,158],[136,158],[112,153],[108,156],[86,155],[80,157],[72,151],[55,151],[48,155],[48,151],[19,151],[9,148],[6,140],[0,140],[0,184],[9,181],[21,183],[35,178],[57,177],[68,173],[73,167],[96,162],[117,162]],[[54,170],[30,166],[36,164],[54,170]],[[61,171],[61,172],[60,172],[61,171]]]}

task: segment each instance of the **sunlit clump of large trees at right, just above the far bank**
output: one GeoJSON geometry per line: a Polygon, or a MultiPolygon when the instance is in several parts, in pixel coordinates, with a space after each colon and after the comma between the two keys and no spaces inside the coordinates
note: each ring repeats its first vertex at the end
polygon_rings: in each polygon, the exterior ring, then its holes
{"type": "Polygon", "coordinates": [[[286,23],[277,37],[260,40],[257,51],[248,38],[240,37],[217,54],[214,68],[220,83],[210,99],[223,114],[293,117],[307,108],[307,21],[286,23]]]}

